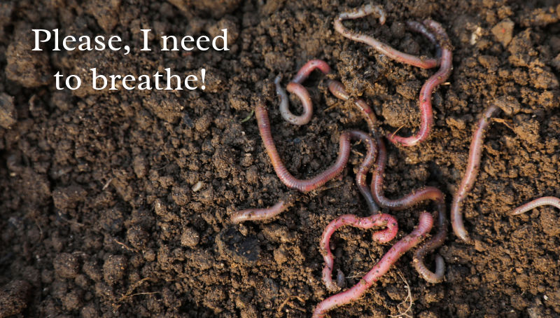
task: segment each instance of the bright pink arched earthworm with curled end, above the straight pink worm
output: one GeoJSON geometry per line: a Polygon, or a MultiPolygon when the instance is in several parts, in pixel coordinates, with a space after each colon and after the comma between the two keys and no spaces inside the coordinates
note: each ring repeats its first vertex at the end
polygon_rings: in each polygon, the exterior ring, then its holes
{"type": "MultiPolygon", "coordinates": [[[[374,214],[365,218],[360,218],[353,214],[346,214],[339,216],[337,219],[330,222],[325,230],[323,230],[320,245],[321,254],[325,260],[325,268],[323,268],[323,282],[325,282],[329,291],[338,291],[342,287],[340,282],[335,283],[332,281],[332,268],[335,264],[335,258],[330,252],[330,237],[342,226],[353,226],[355,228],[363,229],[373,228],[374,226],[386,227],[384,230],[379,230],[372,235],[374,242],[379,243],[386,243],[393,240],[398,232],[397,220],[394,216],[389,214],[374,214]]],[[[339,271],[338,274],[337,280],[344,280],[344,274],[342,274],[342,271],[339,271]]]]}

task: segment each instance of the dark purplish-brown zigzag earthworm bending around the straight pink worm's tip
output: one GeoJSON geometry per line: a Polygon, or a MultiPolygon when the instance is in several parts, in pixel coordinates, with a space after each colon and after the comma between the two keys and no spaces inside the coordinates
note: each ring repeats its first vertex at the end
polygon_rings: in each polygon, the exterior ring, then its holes
{"type": "Polygon", "coordinates": [[[444,195],[440,189],[433,186],[427,186],[425,188],[412,191],[412,193],[409,193],[409,195],[405,195],[400,199],[391,200],[386,198],[383,191],[386,163],[387,151],[385,144],[381,137],[377,136],[377,161],[371,183],[371,193],[373,195],[373,199],[380,207],[393,210],[407,209],[425,200],[432,200],[435,202],[437,210],[434,214],[437,214],[435,215],[435,217],[437,217],[437,234],[416,250],[416,253],[414,253],[413,263],[416,271],[427,282],[434,284],[442,282],[445,271],[443,258],[440,255],[435,256],[435,273],[428,270],[423,262],[423,259],[428,252],[440,247],[447,237],[447,217],[445,213],[444,195]]]}

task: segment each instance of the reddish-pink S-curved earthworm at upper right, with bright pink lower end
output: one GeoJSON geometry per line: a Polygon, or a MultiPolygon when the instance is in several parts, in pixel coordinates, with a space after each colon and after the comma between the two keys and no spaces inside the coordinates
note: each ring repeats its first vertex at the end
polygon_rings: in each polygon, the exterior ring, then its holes
{"type": "Polygon", "coordinates": [[[447,80],[449,74],[451,74],[452,62],[453,57],[451,54],[451,44],[449,43],[449,38],[445,33],[443,27],[433,21],[433,20],[424,20],[424,25],[426,27],[433,30],[433,32],[440,36],[442,41],[441,48],[442,48],[442,57],[441,57],[441,64],[440,69],[435,72],[428,81],[424,83],[420,90],[420,128],[416,134],[411,137],[400,137],[395,136],[395,134],[388,134],[387,139],[391,141],[393,144],[400,144],[402,146],[414,146],[419,144],[420,142],[426,140],[432,130],[433,126],[433,110],[432,110],[432,94],[433,90],[440,85],[444,81],[447,80]]]}

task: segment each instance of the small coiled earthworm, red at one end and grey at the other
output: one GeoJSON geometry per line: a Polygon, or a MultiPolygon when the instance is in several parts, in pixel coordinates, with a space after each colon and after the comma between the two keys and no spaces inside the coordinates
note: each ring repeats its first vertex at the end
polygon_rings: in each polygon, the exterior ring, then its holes
{"type": "Polygon", "coordinates": [[[311,117],[313,116],[313,104],[311,102],[311,97],[309,97],[309,92],[307,92],[307,89],[304,88],[301,83],[305,81],[305,79],[309,77],[309,74],[311,74],[311,72],[315,69],[320,69],[323,74],[328,74],[330,72],[330,67],[323,60],[310,60],[302,66],[293,80],[286,86],[286,90],[297,95],[302,102],[303,113],[300,116],[294,115],[290,111],[288,94],[286,94],[286,91],[280,85],[282,77],[279,75],[274,79],[276,94],[280,98],[280,114],[288,123],[301,126],[309,123],[309,120],[311,120],[311,117]]]}

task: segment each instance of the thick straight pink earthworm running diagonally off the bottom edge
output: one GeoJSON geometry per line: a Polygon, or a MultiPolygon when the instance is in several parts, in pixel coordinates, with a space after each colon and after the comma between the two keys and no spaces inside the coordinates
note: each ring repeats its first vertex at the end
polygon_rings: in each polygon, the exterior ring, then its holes
{"type": "Polygon", "coordinates": [[[422,212],[419,217],[418,226],[405,237],[398,242],[396,242],[391,249],[381,258],[381,260],[374,265],[374,267],[365,274],[358,284],[351,287],[346,291],[337,293],[336,295],[330,296],[329,298],[321,301],[315,308],[313,312],[314,318],[325,317],[326,312],[332,310],[335,307],[346,305],[354,300],[357,300],[363,296],[365,291],[372,286],[374,282],[377,282],[381,276],[383,276],[391,266],[409,249],[415,247],[423,237],[425,237],[431,230],[433,226],[433,218],[428,212],[422,212]]]}

